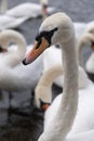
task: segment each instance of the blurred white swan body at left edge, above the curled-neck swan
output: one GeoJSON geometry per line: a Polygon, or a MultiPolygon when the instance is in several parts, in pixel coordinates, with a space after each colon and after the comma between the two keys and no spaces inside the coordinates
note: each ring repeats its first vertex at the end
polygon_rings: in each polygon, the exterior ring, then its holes
{"type": "Polygon", "coordinates": [[[9,15],[0,15],[0,29],[16,28],[23,24],[27,17],[15,18],[9,15]]]}

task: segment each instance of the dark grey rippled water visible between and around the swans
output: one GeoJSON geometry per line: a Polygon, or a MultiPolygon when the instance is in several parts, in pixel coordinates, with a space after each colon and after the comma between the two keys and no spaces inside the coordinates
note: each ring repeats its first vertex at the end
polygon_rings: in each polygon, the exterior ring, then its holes
{"type": "MultiPolygon", "coordinates": [[[[23,2],[37,2],[38,0],[8,0],[9,8],[23,2]]],[[[73,22],[90,22],[94,20],[94,0],[49,0],[50,5],[55,7],[58,11],[66,12],[73,22]]],[[[25,22],[17,30],[21,31],[27,43],[32,43],[35,36],[38,33],[42,18],[35,18],[25,22]]],[[[84,54],[86,57],[86,55],[84,54]]],[[[53,86],[54,97],[62,90],[53,86]]],[[[6,94],[5,92],[3,92],[6,94]]],[[[30,94],[15,95],[22,99],[30,99],[30,94]]],[[[17,99],[15,97],[15,99],[17,99]]],[[[21,102],[19,101],[19,102],[21,102]]],[[[6,104],[5,101],[3,104],[6,104]]],[[[11,120],[8,121],[8,111],[0,110],[0,141],[37,141],[43,130],[43,112],[30,106],[23,110],[26,115],[12,114],[11,120]]]]}

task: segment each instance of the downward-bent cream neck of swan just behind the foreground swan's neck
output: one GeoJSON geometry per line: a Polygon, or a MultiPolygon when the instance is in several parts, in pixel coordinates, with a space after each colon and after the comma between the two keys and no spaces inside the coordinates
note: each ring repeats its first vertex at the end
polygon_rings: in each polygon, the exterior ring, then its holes
{"type": "Polygon", "coordinates": [[[62,65],[54,65],[42,75],[35,90],[36,103],[39,107],[39,98],[43,100],[43,102],[52,102],[52,84],[59,75],[63,75],[62,65]]]}

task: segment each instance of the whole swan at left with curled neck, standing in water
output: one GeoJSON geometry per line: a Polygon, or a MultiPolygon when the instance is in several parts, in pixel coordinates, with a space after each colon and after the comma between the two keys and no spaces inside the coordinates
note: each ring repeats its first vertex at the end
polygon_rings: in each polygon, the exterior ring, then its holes
{"type": "Polygon", "coordinates": [[[22,60],[26,53],[26,40],[23,35],[11,29],[0,33],[0,88],[8,91],[32,91],[42,73],[42,56],[25,67],[22,60]],[[11,42],[17,46],[10,46],[11,42]]]}

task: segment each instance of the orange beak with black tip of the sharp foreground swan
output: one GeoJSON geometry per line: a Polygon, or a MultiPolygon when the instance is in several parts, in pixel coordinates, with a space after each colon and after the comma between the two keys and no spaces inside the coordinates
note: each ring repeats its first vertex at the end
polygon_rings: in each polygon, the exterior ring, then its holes
{"type": "Polygon", "coordinates": [[[41,44],[38,46],[38,43],[39,43],[38,41],[35,41],[33,48],[27,53],[26,57],[23,60],[24,65],[33,62],[49,47],[49,42],[43,37],[41,44]]]}

